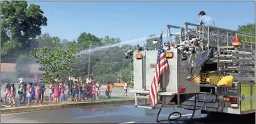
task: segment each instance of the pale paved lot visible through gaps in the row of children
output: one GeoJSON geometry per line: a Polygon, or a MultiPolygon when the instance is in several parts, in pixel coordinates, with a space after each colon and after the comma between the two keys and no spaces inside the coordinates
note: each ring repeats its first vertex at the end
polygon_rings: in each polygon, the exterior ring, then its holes
{"type": "MultiPolygon", "coordinates": [[[[15,87],[17,87],[18,85],[15,85],[15,87]]],[[[6,85],[2,85],[1,87],[1,98],[4,100],[5,99],[5,91],[4,91],[4,88],[6,87],[6,85]]],[[[129,89],[128,90],[128,96],[122,96],[123,94],[123,89],[121,87],[114,87],[112,89],[112,98],[124,98],[124,97],[133,97],[135,96],[132,89],[129,89]]],[[[49,101],[49,89],[46,88],[46,102],[43,103],[45,105],[47,104],[53,104],[52,101],[50,101],[50,103],[48,102],[49,101]]],[[[65,99],[67,100],[68,99],[68,93],[67,93],[67,90],[66,90],[66,96],[65,96],[65,99]]],[[[100,87],[100,99],[106,99],[106,96],[105,96],[105,87],[100,87]]],[[[32,101],[31,105],[36,105],[36,101],[32,101]]],[[[4,108],[4,107],[19,107],[19,106],[24,106],[24,105],[27,105],[27,100],[26,100],[26,103],[23,103],[20,105],[20,98],[19,98],[19,95],[16,93],[16,96],[15,96],[15,105],[13,104],[9,104],[7,101],[6,102],[3,102],[1,103],[1,108],[4,108]]]]}

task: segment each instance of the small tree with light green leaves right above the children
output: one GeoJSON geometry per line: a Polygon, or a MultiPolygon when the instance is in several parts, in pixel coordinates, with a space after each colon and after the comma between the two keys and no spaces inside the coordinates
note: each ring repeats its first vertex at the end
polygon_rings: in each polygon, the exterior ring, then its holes
{"type": "Polygon", "coordinates": [[[63,71],[67,71],[68,75],[73,76],[73,61],[75,56],[75,49],[70,48],[68,51],[54,47],[52,51],[50,48],[35,48],[31,51],[31,57],[37,58],[43,67],[39,68],[44,71],[43,82],[50,83],[55,78],[60,78],[63,71]]]}

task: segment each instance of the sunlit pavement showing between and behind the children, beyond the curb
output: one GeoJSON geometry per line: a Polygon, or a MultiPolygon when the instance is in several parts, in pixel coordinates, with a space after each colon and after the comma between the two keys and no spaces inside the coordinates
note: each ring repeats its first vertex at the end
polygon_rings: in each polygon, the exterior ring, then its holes
{"type": "MultiPolygon", "coordinates": [[[[15,85],[15,87],[17,87],[18,85],[15,85]]],[[[5,88],[6,85],[2,85],[1,87],[1,98],[4,100],[4,97],[6,95],[5,93],[5,88]]],[[[128,89],[128,96],[122,96],[123,95],[123,89],[121,87],[114,87],[112,89],[112,98],[121,98],[121,97],[130,97],[130,96],[135,96],[134,92],[132,91],[132,89],[128,89]]],[[[47,88],[46,89],[46,92],[47,92],[47,99],[48,100],[48,96],[50,95],[49,94],[49,89],[47,88]]],[[[66,92],[66,99],[68,98],[68,93],[66,92]]],[[[105,96],[105,86],[103,87],[100,87],[100,99],[105,99],[106,96],[105,96]]],[[[32,104],[36,104],[36,103],[32,103],[32,104]]],[[[49,104],[48,102],[45,103],[45,104],[49,104]]],[[[26,104],[25,104],[26,105],[26,104]]],[[[16,96],[15,96],[15,106],[20,106],[20,102],[19,102],[19,95],[16,93],[16,96]]],[[[1,108],[2,107],[13,107],[13,105],[9,105],[7,102],[3,102],[1,103],[1,108]]]]}

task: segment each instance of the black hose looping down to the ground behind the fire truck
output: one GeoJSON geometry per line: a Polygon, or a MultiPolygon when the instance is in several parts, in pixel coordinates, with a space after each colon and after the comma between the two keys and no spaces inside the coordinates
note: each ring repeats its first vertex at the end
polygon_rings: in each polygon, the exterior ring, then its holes
{"type": "MultiPolygon", "coordinates": [[[[195,104],[194,104],[194,108],[193,108],[193,113],[191,115],[191,117],[188,119],[188,121],[186,121],[185,123],[190,123],[190,121],[192,121],[193,119],[193,116],[195,115],[195,107],[197,105],[197,95],[195,95],[195,104]]],[[[161,105],[161,107],[163,107],[163,104],[161,105]]],[[[163,120],[158,120],[158,117],[160,115],[160,112],[161,112],[162,108],[159,109],[159,112],[158,112],[158,115],[156,116],[156,122],[157,123],[160,123],[160,122],[163,122],[163,121],[169,121],[171,124],[172,124],[172,121],[177,121],[181,118],[181,113],[180,112],[172,112],[167,119],[163,119],[163,120]],[[179,114],[179,118],[174,118],[174,119],[171,119],[170,117],[172,116],[172,114],[179,114]]],[[[180,124],[184,124],[184,123],[180,123],[180,124]]]]}

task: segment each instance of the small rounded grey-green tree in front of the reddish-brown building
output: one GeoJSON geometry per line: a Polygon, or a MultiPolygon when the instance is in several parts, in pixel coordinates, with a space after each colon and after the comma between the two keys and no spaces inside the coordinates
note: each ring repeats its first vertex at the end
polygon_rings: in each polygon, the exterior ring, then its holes
{"type": "Polygon", "coordinates": [[[26,78],[30,72],[29,57],[21,54],[15,65],[15,75],[17,78],[26,78]]]}

